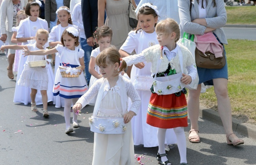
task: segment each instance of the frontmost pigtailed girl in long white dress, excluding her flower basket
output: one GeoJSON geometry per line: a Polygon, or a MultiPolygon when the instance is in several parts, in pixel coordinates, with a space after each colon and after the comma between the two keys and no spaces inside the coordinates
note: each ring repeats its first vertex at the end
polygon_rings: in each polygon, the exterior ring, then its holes
{"type": "Polygon", "coordinates": [[[101,117],[123,117],[126,131],[122,134],[94,134],[93,165],[134,165],[134,143],[130,120],[141,104],[139,95],[130,80],[119,73],[126,68],[118,50],[111,46],[96,57],[100,78],[73,106],[80,111],[98,94],[94,111],[101,117]],[[132,100],[128,111],[128,97],[132,100]],[[98,104],[99,103],[99,104],[98,104]]]}

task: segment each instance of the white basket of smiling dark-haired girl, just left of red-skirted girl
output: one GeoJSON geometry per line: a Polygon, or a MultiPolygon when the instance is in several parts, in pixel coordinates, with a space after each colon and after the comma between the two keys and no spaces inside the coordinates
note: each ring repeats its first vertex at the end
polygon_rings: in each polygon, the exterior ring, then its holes
{"type": "Polygon", "coordinates": [[[139,91],[151,91],[152,84],[153,77],[143,75],[135,76],[135,80],[133,82],[135,89],[139,91]]]}

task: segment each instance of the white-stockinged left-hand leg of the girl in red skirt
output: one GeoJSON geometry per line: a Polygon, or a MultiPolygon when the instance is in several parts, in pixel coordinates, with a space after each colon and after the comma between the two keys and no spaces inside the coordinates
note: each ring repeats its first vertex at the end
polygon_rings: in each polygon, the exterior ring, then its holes
{"type": "MultiPolygon", "coordinates": [[[[165,154],[165,133],[166,129],[158,128],[157,137],[158,137],[158,153],[165,154]]],[[[167,161],[166,156],[161,157],[161,161],[167,161]]],[[[169,164],[169,163],[168,163],[169,164]]]]}

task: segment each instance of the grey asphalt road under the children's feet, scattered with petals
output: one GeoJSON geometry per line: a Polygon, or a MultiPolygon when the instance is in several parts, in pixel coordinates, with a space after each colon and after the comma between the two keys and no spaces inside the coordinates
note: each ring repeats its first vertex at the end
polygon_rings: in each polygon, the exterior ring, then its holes
{"type": "MultiPolygon", "coordinates": [[[[226,31],[226,28],[225,28],[226,31]]],[[[254,33],[256,34],[256,33],[254,33]]],[[[245,36],[245,35],[244,35],[245,36]]],[[[78,117],[80,128],[65,134],[63,108],[49,104],[50,117],[42,117],[43,106],[32,112],[30,105],[13,103],[16,76],[9,80],[6,75],[7,58],[0,54],[0,165],[91,165],[93,157],[93,133],[88,118],[93,106],[82,109],[78,117]]],[[[188,137],[189,126],[185,129],[188,137]]],[[[189,165],[254,165],[256,164],[256,141],[236,133],[245,145],[226,144],[224,129],[213,122],[199,119],[198,144],[187,140],[189,165]]],[[[171,138],[171,137],[170,137],[171,138]]],[[[156,165],[158,147],[134,146],[135,154],[143,155],[142,163],[156,165]]],[[[178,147],[174,144],[168,158],[173,165],[180,164],[178,147]]],[[[100,159],[100,158],[99,158],[100,159]]],[[[139,164],[135,161],[135,165],[139,164]]]]}

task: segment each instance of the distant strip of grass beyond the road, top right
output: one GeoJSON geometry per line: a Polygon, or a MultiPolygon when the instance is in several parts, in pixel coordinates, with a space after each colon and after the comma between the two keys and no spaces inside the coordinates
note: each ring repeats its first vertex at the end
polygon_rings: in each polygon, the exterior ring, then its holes
{"type": "Polygon", "coordinates": [[[227,6],[226,24],[256,24],[256,6],[227,6]]]}

